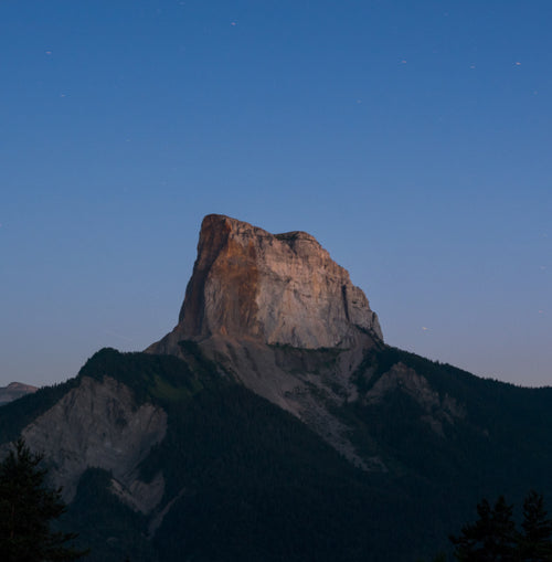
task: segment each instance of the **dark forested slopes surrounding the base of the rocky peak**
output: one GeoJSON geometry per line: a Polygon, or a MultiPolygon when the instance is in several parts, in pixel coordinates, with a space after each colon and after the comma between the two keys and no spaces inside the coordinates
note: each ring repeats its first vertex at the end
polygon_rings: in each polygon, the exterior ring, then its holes
{"type": "Polygon", "coordinates": [[[83,475],[64,524],[91,547],[91,561],[406,562],[450,551],[448,534],[481,497],[506,494],[519,503],[530,488],[552,497],[551,389],[478,379],[394,348],[371,351],[355,375],[362,392],[401,362],[466,415],[440,435],[400,390],[378,404],[344,404],[336,414],[358,449],[385,465],[364,471],[235,383],[197,344],[183,346],[185,361],[104,349],[65,385],[0,409],[6,442],[83,377],[108,375],[132,390],[137,405],[167,412],[167,435],[140,466],[146,481],[159,471],[164,478],[155,513],[121,503],[107,471],[83,475]]]}

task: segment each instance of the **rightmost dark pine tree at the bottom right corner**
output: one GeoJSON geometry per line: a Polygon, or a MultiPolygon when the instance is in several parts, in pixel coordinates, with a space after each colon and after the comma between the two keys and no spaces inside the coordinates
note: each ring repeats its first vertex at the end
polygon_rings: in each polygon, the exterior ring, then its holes
{"type": "Polygon", "coordinates": [[[552,562],[552,520],[546,516],[542,495],[531,490],[523,501],[523,531],[519,539],[523,562],[552,562]]]}

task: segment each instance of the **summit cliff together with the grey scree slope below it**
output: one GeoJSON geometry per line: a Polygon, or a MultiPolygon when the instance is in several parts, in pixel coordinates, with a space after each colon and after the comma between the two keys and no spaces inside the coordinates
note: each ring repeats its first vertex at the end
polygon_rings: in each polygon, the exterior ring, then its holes
{"type": "Polygon", "coordinates": [[[183,340],[352,463],[381,468],[357,455],[350,428],[328,407],[357,397],[352,373],[383,344],[378,316],[310,234],[205,216],[179,324],[146,351],[187,359],[183,340]]]}

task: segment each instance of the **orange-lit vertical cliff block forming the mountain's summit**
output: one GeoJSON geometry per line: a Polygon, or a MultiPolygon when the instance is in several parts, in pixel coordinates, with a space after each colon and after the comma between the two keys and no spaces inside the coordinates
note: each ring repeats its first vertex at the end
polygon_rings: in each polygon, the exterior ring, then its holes
{"type": "MultiPolygon", "coordinates": [[[[348,272],[305,232],[270,234],[223,215],[203,220],[198,258],[170,341],[212,336],[296,348],[383,340],[375,312],[348,272]]],[[[171,336],[171,335],[169,335],[171,336]]]]}

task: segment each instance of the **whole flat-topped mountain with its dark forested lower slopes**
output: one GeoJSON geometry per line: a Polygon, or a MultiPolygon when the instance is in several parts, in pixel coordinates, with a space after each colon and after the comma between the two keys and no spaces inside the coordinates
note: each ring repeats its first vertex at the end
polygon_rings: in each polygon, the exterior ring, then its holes
{"type": "Polygon", "coordinates": [[[177,327],[0,409],[91,561],[413,561],[484,496],[552,497],[552,389],[386,344],[310,235],[204,219],[177,327]]]}

